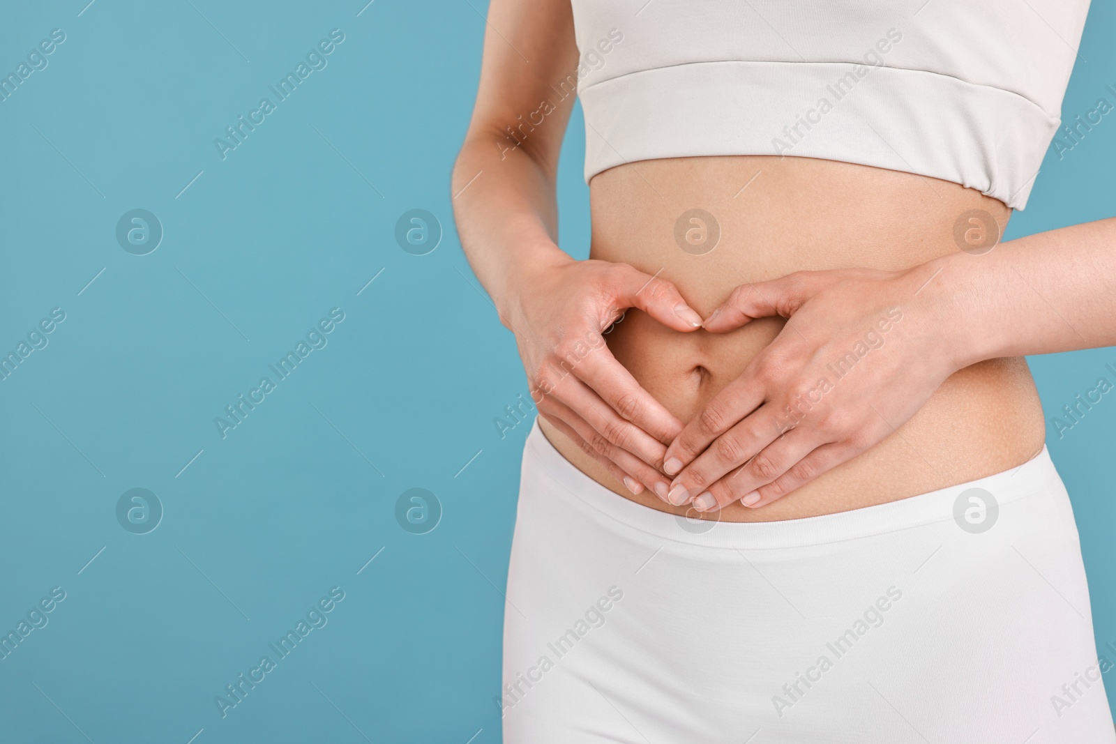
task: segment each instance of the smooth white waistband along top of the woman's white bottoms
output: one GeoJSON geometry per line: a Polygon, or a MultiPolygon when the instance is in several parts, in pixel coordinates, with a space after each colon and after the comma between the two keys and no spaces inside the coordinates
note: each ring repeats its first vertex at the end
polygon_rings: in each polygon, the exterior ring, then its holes
{"type": "MultiPolygon", "coordinates": [[[[531,426],[523,451],[523,485],[533,468],[545,472],[560,487],[558,496],[627,528],[662,540],[710,548],[793,548],[887,534],[954,519],[958,497],[970,489],[992,494],[995,509],[1038,493],[1065,486],[1047,447],[1018,467],[906,499],[835,514],[776,522],[708,522],[644,506],[616,494],[579,471],[542,434],[531,426]]],[[[977,494],[981,495],[981,494],[977,494]]],[[[982,501],[988,502],[987,496],[982,501]]],[[[965,499],[961,512],[969,506],[965,499]]],[[[991,503],[991,502],[988,502],[991,503]]]]}

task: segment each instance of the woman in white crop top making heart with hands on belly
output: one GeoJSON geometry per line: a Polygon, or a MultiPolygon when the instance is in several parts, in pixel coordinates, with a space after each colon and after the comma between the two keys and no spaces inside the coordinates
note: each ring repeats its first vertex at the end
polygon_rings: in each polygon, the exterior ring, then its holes
{"type": "Polygon", "coordinates": [[[540,412],[506,741],[1116,741],[1022,358],[1116,344],[1116,221],[997,244],[1087,4],[492,0],[453,194],[540,412]]]}

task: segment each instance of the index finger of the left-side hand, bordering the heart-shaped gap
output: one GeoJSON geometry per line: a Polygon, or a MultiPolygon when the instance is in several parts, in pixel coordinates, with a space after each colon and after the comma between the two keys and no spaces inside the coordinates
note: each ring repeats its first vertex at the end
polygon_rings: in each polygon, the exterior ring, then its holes
{"type": "Polygon", "coordinates": [[[632,373],[616,360],[604,340],[599,348],[574,367],[574,374],[619,417],[645,432],[656,443],[666,444],[682,431],[682,422],[643,389],[632,373]]]}

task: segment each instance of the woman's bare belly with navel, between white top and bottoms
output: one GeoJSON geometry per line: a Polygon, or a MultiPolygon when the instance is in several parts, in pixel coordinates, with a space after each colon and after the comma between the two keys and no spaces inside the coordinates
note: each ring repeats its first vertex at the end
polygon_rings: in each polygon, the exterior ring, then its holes
{"type": "MultiPolygon", "coordinates": [[[[1001,202],[959,184],[804,157],[644,161],[605,171],[590,190],[590,257],[674,282],[703,316],[744,282],[802,269],[897,270],[958,252],[954,223],[968,210],[994,216],[1001,233],[1010,216],[1001,202]],[[720,229],[708,252],[709,242],[695,244],[700,233],[683,240],[687,250],[675,239],[679,218],[694,209],[713,215],[720,229]]],[[[636,380],[689,422],[782,323],[763,319],[730,334],[680,334],[629,310],[605,338],[636,380]]],[[[700,516],[650,492],[632,495],[549,423],[540,419],[540,426],[567,460],[609,490],[652,509],[700,516]]],[[[712,519],[797,519],[905,499],[1020,465],[1041,451],[1043,436],[1027,363],[993,359],[954,374],[911,421],[859,456],[770,505],[735,503],[712,519]]]]}

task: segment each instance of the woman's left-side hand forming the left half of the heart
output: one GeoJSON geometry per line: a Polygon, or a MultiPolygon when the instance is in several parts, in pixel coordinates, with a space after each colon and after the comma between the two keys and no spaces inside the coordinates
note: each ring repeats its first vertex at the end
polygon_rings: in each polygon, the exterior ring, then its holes
{"type": "Polygon", "coordinates": [[[628,308],[677,331],[696,330],[701,316],[668,281],[565,253],[525,265],[508,289],[501,321],[516,335],[539,414],[632,493],[646,486],[665,500],[663,455],[682,422],[616,360],[604,331],[628,308]]]}

